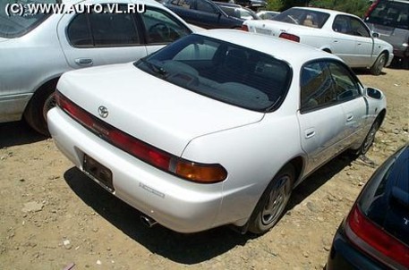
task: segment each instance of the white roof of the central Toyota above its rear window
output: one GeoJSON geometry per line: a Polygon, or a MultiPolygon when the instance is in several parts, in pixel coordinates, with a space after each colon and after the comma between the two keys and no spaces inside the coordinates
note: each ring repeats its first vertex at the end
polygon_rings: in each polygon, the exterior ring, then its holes
{"type": "Polygon", "coordinates": [[[200,32],[200,35],[247,46],[288,63],[305,63],[317,58],[340,60],[336,55],[328,54],[312,46],[243,30],[207,30],[200,32]]]}

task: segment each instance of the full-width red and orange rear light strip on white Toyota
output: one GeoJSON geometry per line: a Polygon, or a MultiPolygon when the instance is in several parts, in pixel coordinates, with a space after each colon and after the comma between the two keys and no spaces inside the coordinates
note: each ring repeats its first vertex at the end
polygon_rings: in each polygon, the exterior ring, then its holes
{"type": "Polygon", "coordinates": [[[80,106],[75,105],[67,97],[56,91],[57,105],[89,131],[107,140],[117,148],[153,165],[167,173],[175,174],[183,179],[200,183],[214,183],[224,181],[227,177],[226,169],[218,164],[200,164],[185,160],[155,148],[148,143],[136,139],[124,131],[119,131],[107,122],[89,114],[80,106]]]}

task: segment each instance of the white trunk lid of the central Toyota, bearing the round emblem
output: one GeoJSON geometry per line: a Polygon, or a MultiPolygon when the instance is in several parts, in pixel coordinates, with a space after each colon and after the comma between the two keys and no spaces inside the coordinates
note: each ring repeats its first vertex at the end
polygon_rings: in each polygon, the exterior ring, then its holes
{"type": "Polygon", "coordinates": [[[175,156],[194,138],[259,122],[263,115],[204,97],[142,72],[132,63],[64,73],[57,89],[94,114],[175,156]]]}

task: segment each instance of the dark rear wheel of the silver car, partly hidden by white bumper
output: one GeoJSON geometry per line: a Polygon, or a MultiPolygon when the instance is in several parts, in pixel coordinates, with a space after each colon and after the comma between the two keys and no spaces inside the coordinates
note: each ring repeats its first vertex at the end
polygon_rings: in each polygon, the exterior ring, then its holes
{"type": "Polygon", "coordinates": [[[48,81],[31,97],[24,111],[24,119],[38,133],[50,136],[47,127],[47,112],[55,107],[55,87],[57,80],[48,81]]]}

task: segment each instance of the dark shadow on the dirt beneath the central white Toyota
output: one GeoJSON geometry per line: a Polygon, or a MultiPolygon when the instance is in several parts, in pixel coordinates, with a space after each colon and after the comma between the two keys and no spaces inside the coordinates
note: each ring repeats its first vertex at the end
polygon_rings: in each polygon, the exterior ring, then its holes
{"type": "MultiPolygon", "coordinates": [[[[352,159],[338,156],[303,181],[293,193],[287,211],[304,198],[318,190],[321,185],[339,173],[352,159]]],[[[226,253],[236,246],[243,246],[257,235],[242,235],[228,226],[218,227],[206,232],[183,234],[173,232],[161,225],[148,228],[141,223],[141,212],[130,207],[119,198],[108,193],[95,181],[75,167],[64,173],[64,179],[74,193],[98,215],[105,218],[132,240],[139,242],[150,252],[185,265],[198,264],[226,253]]]]}

